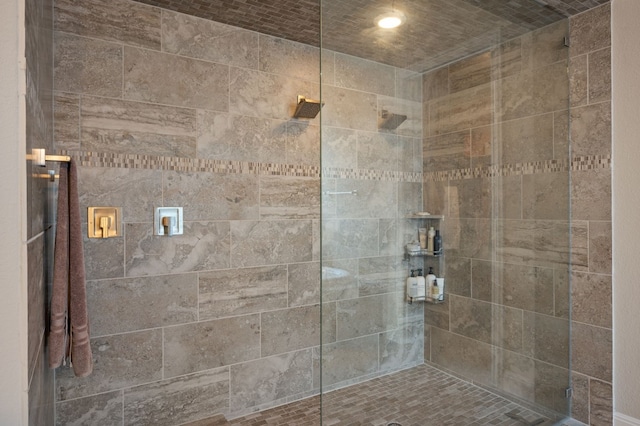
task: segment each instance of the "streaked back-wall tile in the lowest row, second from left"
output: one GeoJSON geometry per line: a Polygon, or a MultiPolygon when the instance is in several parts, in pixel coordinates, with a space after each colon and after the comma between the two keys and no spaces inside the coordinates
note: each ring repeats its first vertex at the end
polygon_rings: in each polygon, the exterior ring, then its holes
{"type": "Polygon", "coordinates": [[[227,412],[229,369],[218,368],[124,391],[124,424],[174,425],[227,412]]]}

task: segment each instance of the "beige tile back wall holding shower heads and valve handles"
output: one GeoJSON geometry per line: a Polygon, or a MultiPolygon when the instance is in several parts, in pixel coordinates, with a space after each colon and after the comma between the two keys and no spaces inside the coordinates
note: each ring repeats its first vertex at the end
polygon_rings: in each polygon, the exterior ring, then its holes
{"type": "Polygon", "coordinates": [[[323,52],[320,164],[319,119],[292,119],[298,94],[319,97],[317,48],[124,0],[58,0],[55,24],[56,147],[80,162],[83,212],[125,222],[84,241],[94,373],[57,372],[57,424],[316,394],[321,334],[331,386],[423,362],[401,256],[422,204],[420,76],[323,52]],[[379,132],[382,109],[408,119],[379,132]],[[183,235],[153,235],[157,206],[184,208],[183,235]]]}

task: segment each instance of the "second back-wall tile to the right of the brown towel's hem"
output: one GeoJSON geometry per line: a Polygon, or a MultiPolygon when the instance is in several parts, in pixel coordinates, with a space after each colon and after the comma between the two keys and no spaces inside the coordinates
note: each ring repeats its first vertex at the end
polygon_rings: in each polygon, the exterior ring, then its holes
{"type": "Polygon", "coordinates": [[[260,315],[244,315],[164,329],[164,377],[260,358],[260,315]]]}

